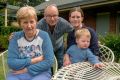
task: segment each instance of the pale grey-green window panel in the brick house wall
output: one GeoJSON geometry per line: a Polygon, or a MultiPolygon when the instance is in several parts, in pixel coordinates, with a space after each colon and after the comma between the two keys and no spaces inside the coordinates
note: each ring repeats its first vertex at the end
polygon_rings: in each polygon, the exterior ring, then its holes
{"type": "Polygon", "coordinates": [[[98,35],[106,35],[109,32],[110,13],[102,12],[96,15],[96,32],[98,35]]]}

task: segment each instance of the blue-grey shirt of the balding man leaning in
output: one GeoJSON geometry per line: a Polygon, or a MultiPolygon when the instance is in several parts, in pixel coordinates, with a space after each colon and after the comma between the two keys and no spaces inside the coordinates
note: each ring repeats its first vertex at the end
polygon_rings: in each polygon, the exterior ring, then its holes
{"type": "Polygon", "coordinates": [[[51,33],[50,26],[46,23],[44,18],[38,22],[37,28],[46,31],[49,34],[54,51],[57,51],[63,45],[64,34],[73,30],[73,26],[61,17],[58,18],[53,33],[51,33]]]}

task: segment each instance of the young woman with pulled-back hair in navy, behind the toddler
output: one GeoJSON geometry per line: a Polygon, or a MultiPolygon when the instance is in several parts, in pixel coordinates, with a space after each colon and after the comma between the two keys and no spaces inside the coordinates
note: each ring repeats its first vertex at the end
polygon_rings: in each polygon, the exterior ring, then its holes
{"type": "Polygon", "coordinates": [[[71,45],[76,44],[75,41],[75,31],[80,28],[87,28],[91,34],[91,40],[90,40],[90,50],[94,53],[94,55],[99,56],[99,47],[98,47],[98,38],[96,32],[90,28],[89,26],[86,26],[83,23],[84,14],[80,7],[74,7],[70,10],[69,13],[69,21],[74,27],[74,30],[68,34],[67,37],[67,48],[69,48],[71,45]]]}

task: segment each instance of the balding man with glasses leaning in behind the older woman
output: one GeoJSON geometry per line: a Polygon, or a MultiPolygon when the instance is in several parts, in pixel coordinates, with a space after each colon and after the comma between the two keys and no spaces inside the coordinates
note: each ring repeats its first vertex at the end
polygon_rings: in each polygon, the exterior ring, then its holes
{"type": "Polygon", "coordinates": [[[63,36],[64,33],[73,30],[72,25],[59,17],[57,6],[52,4],[45,8],[44,18],[38,22],[37,28],[48,32],[54,47],[55,56],[58,60],[58,68],[62,67],[64,55],[63,36]]]}

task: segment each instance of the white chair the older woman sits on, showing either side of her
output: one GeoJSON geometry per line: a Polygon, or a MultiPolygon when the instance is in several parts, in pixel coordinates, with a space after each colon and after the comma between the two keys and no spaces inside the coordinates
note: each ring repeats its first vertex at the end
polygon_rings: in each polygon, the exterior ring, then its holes
{"type": "MultiPolygon", "coordinates": [[[[0,76],[3,76],[2,78],[4,78],[2,80],[6,80],[6,74],[10,70],[7,66],[7,53],[8,53],[8,50],[0,54],[0,58],[1,58],[0,61],[2,62],[2,65],[0,65],[0,68],[2,68],[2,71],[0,73],[3,73],[3,75],[0,75],[0,76]]],[[[53,74],[57,72],[57,69],[58,69],[58,63],[57,63],[56,57],[54,56],[53,74]]],[[[1,77],[0,77],[0,80],[1,80],[1,77]]]]}

